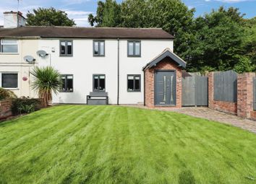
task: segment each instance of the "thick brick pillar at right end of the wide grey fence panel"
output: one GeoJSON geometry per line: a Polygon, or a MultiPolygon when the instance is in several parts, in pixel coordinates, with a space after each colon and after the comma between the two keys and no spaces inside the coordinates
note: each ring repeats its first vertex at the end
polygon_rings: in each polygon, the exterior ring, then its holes
{"type": "Polygon", "coordinates": [[[237,115],[251,118],[253,111],[253,78],[255,73],[239,74],[237,77],[237,115]]]}

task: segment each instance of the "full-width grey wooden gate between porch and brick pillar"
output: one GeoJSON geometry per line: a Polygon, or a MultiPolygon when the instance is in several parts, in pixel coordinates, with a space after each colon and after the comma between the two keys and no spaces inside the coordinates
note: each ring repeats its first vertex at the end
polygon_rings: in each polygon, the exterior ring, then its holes
{"type": "Polygon", "coordinates": [[[182,74],[182,106],[208,106],[208,76],[182,74]]]}

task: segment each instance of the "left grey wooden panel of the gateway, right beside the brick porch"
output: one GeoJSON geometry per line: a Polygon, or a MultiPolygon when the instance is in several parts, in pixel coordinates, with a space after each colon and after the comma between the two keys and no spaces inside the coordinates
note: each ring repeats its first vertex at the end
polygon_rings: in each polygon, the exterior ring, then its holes
{"type": "Polygon", "coordinates": [[[195,77],[190,74],[182,77],[182,105],[195,105],[195,77]]]}

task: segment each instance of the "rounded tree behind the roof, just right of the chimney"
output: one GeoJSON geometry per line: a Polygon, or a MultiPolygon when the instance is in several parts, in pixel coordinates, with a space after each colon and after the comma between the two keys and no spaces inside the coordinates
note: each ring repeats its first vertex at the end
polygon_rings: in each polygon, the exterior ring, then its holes
{"type": "Polygon", "coordinates": [[[27,13],[28,26],[74,26],[74,20],[67,17],[67,13],[53,7],[33,9],[27,13]]]}

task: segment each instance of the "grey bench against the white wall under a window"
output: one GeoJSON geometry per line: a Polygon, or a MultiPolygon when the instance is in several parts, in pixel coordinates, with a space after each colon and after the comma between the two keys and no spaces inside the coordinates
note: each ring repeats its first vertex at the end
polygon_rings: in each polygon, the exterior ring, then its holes
{"type": "Polygon", "coordinates": [[[108,105],[108,92],[90,92],[86,100],[87,105],[108,105]]]}

